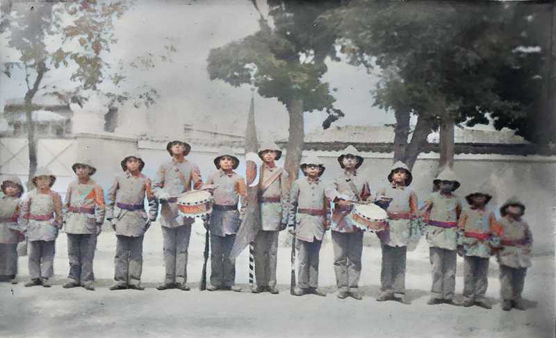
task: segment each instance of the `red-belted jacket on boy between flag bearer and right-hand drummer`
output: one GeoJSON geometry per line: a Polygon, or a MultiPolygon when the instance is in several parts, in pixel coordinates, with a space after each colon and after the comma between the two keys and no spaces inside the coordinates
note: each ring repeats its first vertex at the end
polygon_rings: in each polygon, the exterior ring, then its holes
{"type": "Polygon", "coordinates": [[[289,200],[288,226],[295,225],[295,236],[305,242],[322,241],[330,223],[330,202],[322,180],[299,178],[291,187],[289,200]],[[315,212],[309,214],[305,210],[315,212]]]}

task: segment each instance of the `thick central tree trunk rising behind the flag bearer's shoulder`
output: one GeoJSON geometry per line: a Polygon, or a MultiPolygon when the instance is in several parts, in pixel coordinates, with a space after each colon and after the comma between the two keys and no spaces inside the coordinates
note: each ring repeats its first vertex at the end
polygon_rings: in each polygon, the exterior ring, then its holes
{"type": "Polygon", "coordinates": [[[289,183],[297,179],[299,174],[301,153],[304,140],[303,100],[292,99],[287,105],[290,117],[288,145],[286,146],[286,161],[284,169],[288,172],[289,183]]]}

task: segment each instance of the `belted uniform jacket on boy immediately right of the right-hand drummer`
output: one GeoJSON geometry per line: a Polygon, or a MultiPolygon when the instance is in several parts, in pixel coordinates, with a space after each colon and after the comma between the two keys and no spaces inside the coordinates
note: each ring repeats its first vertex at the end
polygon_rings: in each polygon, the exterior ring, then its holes
{"type": "MultiPolygon", "coordinates": [[[[416,216],[417,195],[410,187],[389,185],[382,194],[392,198],[386,212],[388,213],[389,246],[407,246],[411,237],[411,219],[416,216]]],[[[380,236],[379,236],[380,237],[380,236]]]]}

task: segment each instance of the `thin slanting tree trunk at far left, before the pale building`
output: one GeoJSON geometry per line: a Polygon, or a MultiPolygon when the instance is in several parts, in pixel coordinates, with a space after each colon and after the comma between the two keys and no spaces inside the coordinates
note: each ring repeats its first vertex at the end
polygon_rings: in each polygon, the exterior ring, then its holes
{"type": "Polygon", "coordinates": [[[33,83],[33,87],[31,87],[25,94],[25,117],[26,117],[26,124],[27,124],[27,142],[28,142],[28,149],[29,149],[29,171],[28,171],[28,181],[27,181],[27,189],[33,189],[33,184],[31,183],[31,178],[35,175],[35,171],[37,171],[37,138],[35,137],[35,122],[33,121],[33,98],[39,89],[39,85],[42,81],[42,77],[44,73],[47,72],[47,66],[45,65],[44,61],[38,62],[38,65],[35,69],[37,71],[37,77],[35,78],[35,82],[33,83]]]}

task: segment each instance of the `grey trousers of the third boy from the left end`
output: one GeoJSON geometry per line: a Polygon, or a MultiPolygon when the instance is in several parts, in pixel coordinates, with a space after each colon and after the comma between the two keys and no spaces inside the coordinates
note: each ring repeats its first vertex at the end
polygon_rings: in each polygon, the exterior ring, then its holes
{"type": "Polygon", "coordinates": [[[70,260],[70,273],[67,278],[85,285],[95,280],[92,260],[95,258],[97,235],[67,234],[67,257],[70,260]]]}

